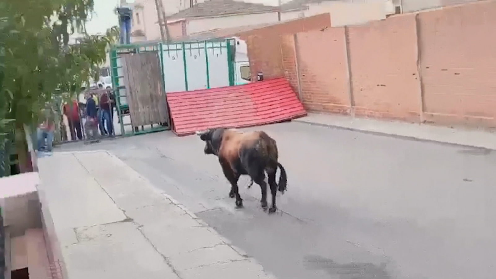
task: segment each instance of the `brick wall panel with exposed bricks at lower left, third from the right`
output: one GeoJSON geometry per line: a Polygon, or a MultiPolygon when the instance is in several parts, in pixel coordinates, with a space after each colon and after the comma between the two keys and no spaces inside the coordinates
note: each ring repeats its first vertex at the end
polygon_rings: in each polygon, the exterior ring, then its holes
{"type": "Polygon", "coordinates": [[[309,111],[350,111],[344,30],[297,34],[302,100],[309,111]]]}

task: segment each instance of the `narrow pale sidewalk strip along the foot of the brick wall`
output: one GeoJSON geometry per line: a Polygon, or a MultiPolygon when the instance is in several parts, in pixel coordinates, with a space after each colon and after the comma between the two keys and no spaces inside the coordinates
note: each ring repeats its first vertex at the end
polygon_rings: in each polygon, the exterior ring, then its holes
{"type": "Polygon", "coordinates": [[[496,150],[496,133],[482,130],[464,130],[460,128],[448,128],[426,124],[316,113],[309,113],[308,116],[293,121],[351,131],[430,140],[496,150]]]}

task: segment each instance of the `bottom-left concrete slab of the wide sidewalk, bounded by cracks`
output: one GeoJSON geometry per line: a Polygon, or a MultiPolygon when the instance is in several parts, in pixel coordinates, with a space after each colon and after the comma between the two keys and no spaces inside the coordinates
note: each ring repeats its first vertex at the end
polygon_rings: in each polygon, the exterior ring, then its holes
{"type": "Polygon", "coordinates": [[[65,248],[70,279],[179,279],[132,222],[77,228],[65,248]]]}

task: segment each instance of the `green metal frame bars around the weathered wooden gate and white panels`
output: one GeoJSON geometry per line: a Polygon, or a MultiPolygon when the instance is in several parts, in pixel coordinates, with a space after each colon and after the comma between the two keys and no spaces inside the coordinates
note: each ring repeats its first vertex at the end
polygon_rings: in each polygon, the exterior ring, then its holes
{"type": "MultiPolygon", "coordinates": [[[[207,79],[207,88],[210,88],[210,73],[209,73],[209,62],[208,62],[208,55],[207,55],[207,49],[212,49],[212,48],[226,48],[227,49],[227,66],[228,66],[228,80],[229,80],[229,86],[235,85],[235,69],[234,69],[234,64],[235,64],[235,39],[222,39],[222,40],[205,40],[205,41],[190,41],[190,42],[177,42],[177,43],[171,43],[171,44],[163,44],[161,42],[156,43],[156,42],[145,42],[142,44],[131,44],[131,45],[115,45],[110,51],[110,65],[111,65],[111,72],[112,72],[112,85],[113,89],[115,91],[115,96],[116,96],[116,103],[117,103],[117,114],[118,118],[120,120],[121,124],[121,135],[122,136],[131,136],[131,135],[139,135],[139,134],[147,134],[147,133],[153,133],[153,132],[158,132],[158,131],[164,131],[164,130],[170,130],[171,126],[171,119],[169,115],[168,119],[168,127],[151,127],[151,129],[144,130],[143,127],[141,127],[141,131],[136,131],[136,127],[132,129],[131,134],[126,134],[124,131],[124,126],[128,126],[131,124],[124,124],[124,116],[129,115],[129,113],[125,112],[129,110],[129,106],[127,104],[121,104],[121,98],[125,97],[125,94],[123,95],[122,89],[125,89],[124,85],[121,85],[119,83],[119,79],[123,78],[124,76],[119,75],[118,69],[121,69],[122,66],[117,65],[117,59],[120,58],[119,54],[121,53],[140,53],[140,52],[148,52],[148,51],[157,51],[159,53],[159,59],[160,59],[160,68],[162,71],[162,86],[165,91],[165,76],[164,76],[164,69],[163,69],[163,63],[164,63],[164,47],[167,47],[168,49],[172,50],[170,46],[173,45],[182,45],[182,52],[183,52],[183,63],[184,63],[184,71],[185,71],[185,88],[186,91],[190,91],[188,88],[188,82],[187,82],[187,63],[186,63],[186,50],[190,51],[192,49],[198,49],[198,48],[193,48],[191,44],[198,44],[198,43],[203,43],[204,44],[204,49],[205,49],[205,64],[206,64],[206,79],[207,79]],[[221,46],[214,46],[214,43],[222,43],[226,42],[226,47],[221,46]],[[207,47],[207,43],[210,43],[211,46],[207,47]]],[[[167,98],[167,91],[166,93],[166,98],[167,98]]],[[[168,109],[169,111],[169,109],[168,109]]]]}

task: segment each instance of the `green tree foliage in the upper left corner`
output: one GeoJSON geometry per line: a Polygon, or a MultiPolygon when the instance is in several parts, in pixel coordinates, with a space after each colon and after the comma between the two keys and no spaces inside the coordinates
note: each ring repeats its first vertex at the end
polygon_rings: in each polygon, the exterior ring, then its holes
{"type": "Polygon", "coordinates": [[[74,95],[106,61],[119,29],[86,34],[93,1],[0,1],[0,150],[11,129],[35,124],[54,94],[74,95]],[[83,36],[70,44],[75,33],[83,36]]]}

